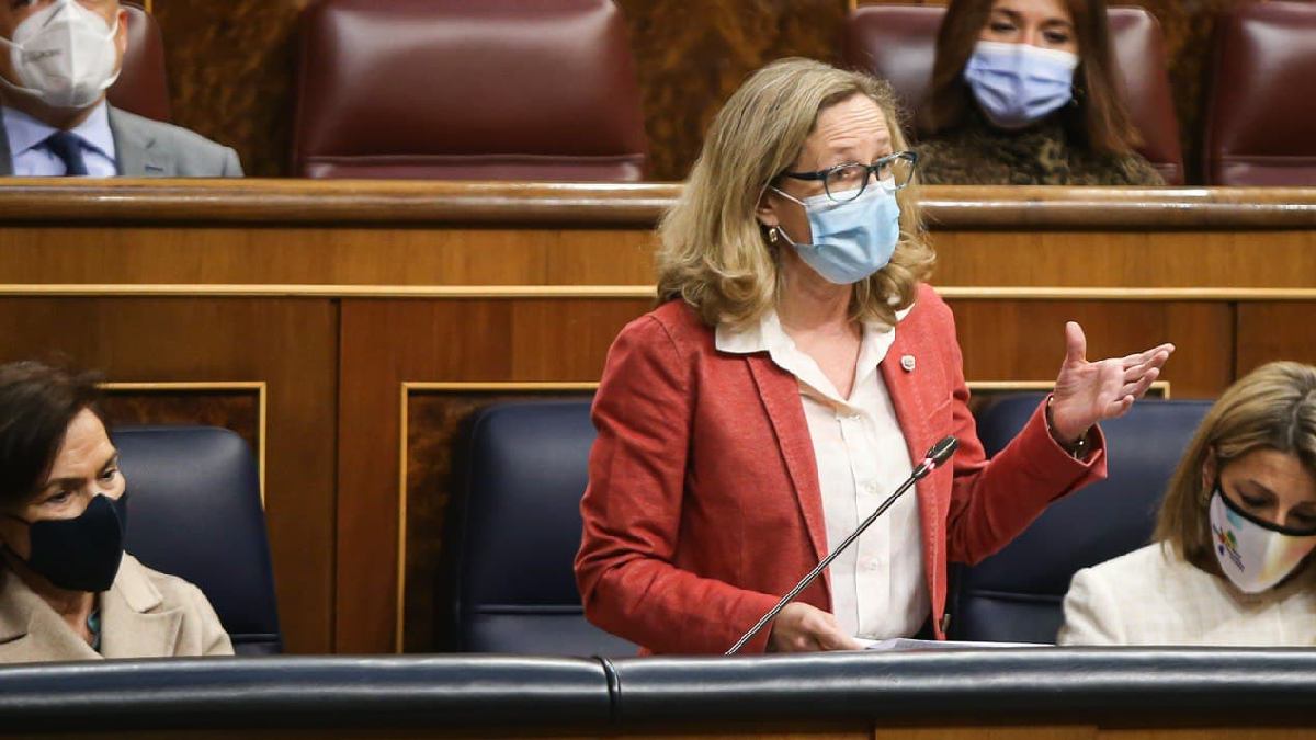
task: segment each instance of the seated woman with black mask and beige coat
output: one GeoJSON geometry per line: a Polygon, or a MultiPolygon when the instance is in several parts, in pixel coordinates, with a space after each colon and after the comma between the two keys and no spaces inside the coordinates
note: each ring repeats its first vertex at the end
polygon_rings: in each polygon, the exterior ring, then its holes
{"type": "Polygon", "coordinates": [[[233,654],[201,591],[124,552],[95,383],[0,366],[0,662],[233,654]]]}

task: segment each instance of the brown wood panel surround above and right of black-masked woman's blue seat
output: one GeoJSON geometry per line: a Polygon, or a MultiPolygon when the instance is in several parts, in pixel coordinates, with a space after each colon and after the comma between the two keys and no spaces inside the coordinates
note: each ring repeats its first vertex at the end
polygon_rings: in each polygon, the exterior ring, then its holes
{"type": "Polygon", "coordinates": [[[0,361],[59,353],[111,382],[266,382],[284,641],[316,653],[333,627],[336,324],[328,300],[4,298],[0,361]]]}

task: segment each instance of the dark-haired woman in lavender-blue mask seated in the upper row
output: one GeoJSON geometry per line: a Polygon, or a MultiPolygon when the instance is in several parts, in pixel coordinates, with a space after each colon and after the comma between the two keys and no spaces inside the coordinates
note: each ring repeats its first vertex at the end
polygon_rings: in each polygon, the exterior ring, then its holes
{"type": "Polygon", "coordinates": [[[1165,184],[1116,84],[1104,0],[951,0],[916,149],[929,184],[1165,184]]]}

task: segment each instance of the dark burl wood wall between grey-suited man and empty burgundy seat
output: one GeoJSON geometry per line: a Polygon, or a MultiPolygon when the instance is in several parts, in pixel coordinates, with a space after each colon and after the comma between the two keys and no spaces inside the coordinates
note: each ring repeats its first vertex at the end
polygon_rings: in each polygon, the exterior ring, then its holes
{"type": "Polygon", "coordinates": [[[288,171],[296,24],[312,0],[153,0],[174,122],[233,146],[247,175],[288,171]]]}

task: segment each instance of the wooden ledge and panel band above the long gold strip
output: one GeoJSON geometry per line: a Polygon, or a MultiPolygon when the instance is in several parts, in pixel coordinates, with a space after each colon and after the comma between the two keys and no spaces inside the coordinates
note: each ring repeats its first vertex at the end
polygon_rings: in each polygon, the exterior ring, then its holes
{"type": "MultiPolygon", "coordinates": [[[[653,283],[653,224],[678,192],[301,180],[0,186],[0,286],[328,286],[322,295],[349,292],[332,286],[629,286],[636,295],[653,283]]],[[[923,195],[944,287],[1316,288],[1316,190],[923,195]]]]}

